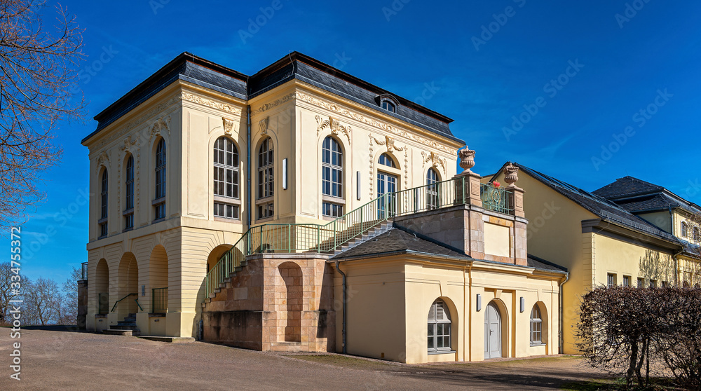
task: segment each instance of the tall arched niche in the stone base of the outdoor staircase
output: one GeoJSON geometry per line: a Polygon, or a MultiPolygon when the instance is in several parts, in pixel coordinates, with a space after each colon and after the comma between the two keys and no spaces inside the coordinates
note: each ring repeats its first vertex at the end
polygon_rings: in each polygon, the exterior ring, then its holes
{"type": "Polygon", "coordinates": [[[283,280],[279,284],[278,341],[301,342],[302,292],[304,291],[302,270],[294,262],[283,262],[278,266],[283,280]]]}

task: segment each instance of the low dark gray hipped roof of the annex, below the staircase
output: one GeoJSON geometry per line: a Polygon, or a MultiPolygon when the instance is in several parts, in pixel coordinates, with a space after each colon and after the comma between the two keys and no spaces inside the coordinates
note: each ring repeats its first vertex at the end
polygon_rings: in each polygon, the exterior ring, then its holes
{"type": "Polygon", "coordinates": [[[345,252],[341,252],[341,254],[334,256],[333,259],[377,256],[402,251],[470,259],[470,257],[464,253],[440,245],[435,240],[428,240],[428,238],[423,235],[409,233],[400,228],[390,228],[386,233],[381,233],[374,238],[360,243],[360,245],[348,249],[345,252]]]}

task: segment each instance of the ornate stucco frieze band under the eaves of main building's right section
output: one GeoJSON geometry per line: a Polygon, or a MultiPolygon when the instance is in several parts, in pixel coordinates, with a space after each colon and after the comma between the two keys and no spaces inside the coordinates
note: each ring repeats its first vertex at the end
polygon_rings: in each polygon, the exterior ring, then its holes
{"type": "Polygon", "coordinates": [[[380,128],[380,129],[386,130],[388,132],[394,133],[395,135],[414,140],[415,142],[424,144],[426,146],[430,146],[431,148],[438,149],[440,151],[444,151],[446,153],[449,153],[450,155],[455,155],[456,153],[458,153],[458,151],[456,149],[448,148],[447,146],[444,146],[444,145],[439,144],[437,142],[426,139],[426,137],[413,135],[413,134],[406,132],[404,130],[397,129],[392,125],[388,125],[386,123],[381,123],[379,121],[375,121],[374,119],[367,118],[367,117],[363,116],[362,114],[358,114],[358,113],[355,113],[354,111],[344,109],[343,107],[340,107],[337,104],[324,102],[320,99],[312,97],[311,95],[307,95],[304,92],[299,92],[299,91],[292,92],[291,94],[285,95],[284,97],[281,97],[278,100],[275,100],[275,101],[270,102],[270,103],[266,103],[266,104],[262,105],[261,107],[259,107],[257,110],[252,111],[251,114],[252,115],[261,114],[266,110],[273,109],[273,107],[276,107],[280,104],[283,104],[283,103],[288,102],[288,101],[293,100],[293,99],[299,99],[302,102],[313,104],[317,107],[321,107],[322,109],[334,111],[334,113],[341,114],[341,115],[346,116],[348,118],[353,118],[356,121],[366,123],[367,125],[371,125],[371,126],[374,126],[376,128],[380,128]]]}

